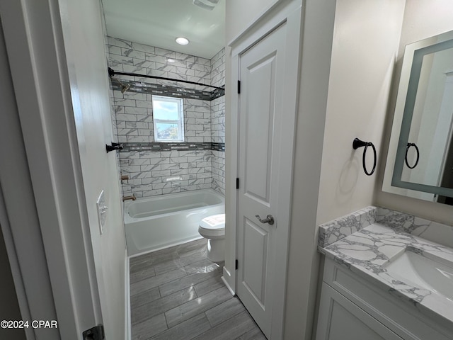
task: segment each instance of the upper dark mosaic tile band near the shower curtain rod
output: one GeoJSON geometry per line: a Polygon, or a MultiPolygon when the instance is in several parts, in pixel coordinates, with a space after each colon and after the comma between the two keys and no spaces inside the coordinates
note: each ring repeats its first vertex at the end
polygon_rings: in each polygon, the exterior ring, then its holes
{"type": "MultiPolygon", "coordinates": [[[[129,85],[127,91],[138,94],[158,94],[176,98],[200,99],[202,101],[213,101],[216,98],[225,95],[224,89],[214,89],[214,91],[202,91],[193,89],[184,89],[178,86],[166,86],[161,84],[149,84],[142,81],[130,81],[121,79],[122,84],[129,85]]],[[[112,89],[121,91],[122,86],[117,81],[112,81],[112,89]]]]}

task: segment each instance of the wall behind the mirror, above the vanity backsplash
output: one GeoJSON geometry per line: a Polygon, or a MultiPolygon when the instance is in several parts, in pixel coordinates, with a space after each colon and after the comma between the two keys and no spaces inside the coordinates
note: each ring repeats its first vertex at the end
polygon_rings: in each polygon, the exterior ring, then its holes
{"type": "MultiPolygon", "coordinates": [[[[386,142],[384,143],[382,159],[385,159],[386,157],[390,139],[391,123],[393,120],[399,77],[401,74],[404,47],[411,42],[453,30],[452,13],[453,3],[449,0],[406,0],[403,28],[401,30],[401,40],[398,48],[398,63],[395,68],[394,84],[392,84],[389,117],[384,130],[384,140],[386,142]]],[[[432,203],[383,192],[381,188],[384,166],[385,162],[381,162],[381,175],[379,176],[379,187],[377,188],[377,193],[374,198],[375,204],[394,210],[408,212],[447,225],[452,224],[453,207],[450,205],[432,203]]]]}

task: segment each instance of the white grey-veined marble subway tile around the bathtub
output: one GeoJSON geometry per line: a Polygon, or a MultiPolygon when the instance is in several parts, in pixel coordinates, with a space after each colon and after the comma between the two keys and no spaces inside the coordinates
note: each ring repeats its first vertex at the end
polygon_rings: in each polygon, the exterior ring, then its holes
{"type": "MultiPolygon", "coordinates": [[[[214,86],[224,84],[224,50],[207,60],[111,37],[108,38],[108,48],[109,66],[118,72],[151,74],[214,86]],[[168,58],[174,62],[168,62],[168,58]]],[[[117,78],[178,85],[139,77],[117,78]]],[[[197,86],[197,89],[203,88],[197,86]]],[[[118,141],[154,142],[151,95],[113,91],[113,101],[118,141]]],[[[224,96],[213,101],[184,98],[183,105],[185,142],[224,143],[224,96]]],[[[223,151],[133,151],[119,154],[121,172],[130,176],[130,180],[122,185],[124,195],[134,193],[136,197],[147,197],[204,188],[214,188],[224,194],[223,151]]]]}

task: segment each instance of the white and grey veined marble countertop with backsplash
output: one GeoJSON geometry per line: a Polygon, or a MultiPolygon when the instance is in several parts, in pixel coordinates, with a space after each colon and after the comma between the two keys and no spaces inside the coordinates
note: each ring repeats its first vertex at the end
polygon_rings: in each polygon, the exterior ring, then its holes
{"type": "Polygon", "coordinates": [[[423,238],[423,234],[432,235],[432,229],[437,234],[453,232],[451,226],[393,210],[369,207],[321,225],[318,249],[329,259],[451,328],[453,300],[385,268],[386,263],[406,250],[440,263],[451,263],[452,247],[423,238]]]}

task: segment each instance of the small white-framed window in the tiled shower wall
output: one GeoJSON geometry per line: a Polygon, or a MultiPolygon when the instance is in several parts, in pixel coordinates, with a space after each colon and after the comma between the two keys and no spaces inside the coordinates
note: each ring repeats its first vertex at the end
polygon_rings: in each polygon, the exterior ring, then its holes
{"type": "Polygon", "coordinates": [[[154,141],[184,142],[183,99],[152,96],[154,141]]]}

